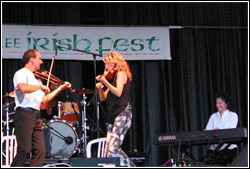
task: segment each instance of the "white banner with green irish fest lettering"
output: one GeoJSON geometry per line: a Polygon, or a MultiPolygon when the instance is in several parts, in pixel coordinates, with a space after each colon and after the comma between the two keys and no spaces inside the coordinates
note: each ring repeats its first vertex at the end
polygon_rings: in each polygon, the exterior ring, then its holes
{"type": "Polygon", "coordinates": [[[171,60],[169,27],[68,27],[2,25],[2,58],[22,59],[38,49],[42,59],[101,60],[112,51],[126,60],[171,60]],[[57,48],[56,52],[56,46],[57,48]]]}

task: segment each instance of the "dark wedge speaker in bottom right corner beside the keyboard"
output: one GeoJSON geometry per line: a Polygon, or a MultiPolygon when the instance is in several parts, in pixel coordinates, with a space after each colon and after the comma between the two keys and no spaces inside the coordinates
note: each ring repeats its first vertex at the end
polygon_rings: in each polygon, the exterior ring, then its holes
{"type": "Polygon", "coordinates": [[[239,155],[231,163],[232,167],[247,167],[248,166],[248,146],[246,146],[239,155]]]}

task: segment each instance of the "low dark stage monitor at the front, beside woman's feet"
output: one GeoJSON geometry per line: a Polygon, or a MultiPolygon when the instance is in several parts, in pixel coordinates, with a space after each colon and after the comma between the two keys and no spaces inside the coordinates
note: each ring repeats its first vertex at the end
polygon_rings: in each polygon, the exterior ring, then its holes
{"type": "Polygon", "coordinates": [[[112,158],[71,158],[72,167],[120,167],[120,157],[112,158]]]}

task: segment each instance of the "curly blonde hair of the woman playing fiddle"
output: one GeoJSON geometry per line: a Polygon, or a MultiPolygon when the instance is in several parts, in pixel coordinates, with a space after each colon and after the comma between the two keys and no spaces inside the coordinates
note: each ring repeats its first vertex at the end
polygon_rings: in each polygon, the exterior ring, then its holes
{"type": "Polygon", "coordinates": [[[114,65],[114,67],[118,71],[125,72],[128,76],[129,80],[132,81],[132,74],[129,68],[129,65],[127,61],[124,59],[124,57],[118,53],[118,52],[111,52],[110,54],[106,55],[103,58],[103,62],[106,64],[109,62],[110,64],[114,65]]]}

